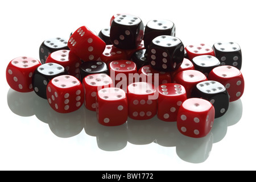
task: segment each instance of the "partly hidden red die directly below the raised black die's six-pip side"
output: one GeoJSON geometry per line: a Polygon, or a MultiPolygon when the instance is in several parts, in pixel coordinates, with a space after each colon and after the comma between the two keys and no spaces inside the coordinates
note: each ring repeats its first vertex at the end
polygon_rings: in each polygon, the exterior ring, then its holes
{"type": "Polygon", "coordinates": [[[171,74],[169,72],[159,72],[153,69],[151,65],[145,65],[144,67],[141,67],[138,73],[142,78],[141,81],[150,82],[155,86],[158,86],[159,84],[171,83],[171,74]],[[157,80],[155,81],[155,79],[157,80]]]}

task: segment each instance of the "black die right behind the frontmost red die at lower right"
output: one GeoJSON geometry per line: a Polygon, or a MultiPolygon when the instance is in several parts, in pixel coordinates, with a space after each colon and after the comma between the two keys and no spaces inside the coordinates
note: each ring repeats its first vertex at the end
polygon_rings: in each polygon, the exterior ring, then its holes
{"type": "Polygon", "coordinates": [[[225,86],[217,81],[203,81],[192,89],[192,97],[208,100],[215,109],[215,118],[221,117],[229,108],[229,94],[225,86]]]}

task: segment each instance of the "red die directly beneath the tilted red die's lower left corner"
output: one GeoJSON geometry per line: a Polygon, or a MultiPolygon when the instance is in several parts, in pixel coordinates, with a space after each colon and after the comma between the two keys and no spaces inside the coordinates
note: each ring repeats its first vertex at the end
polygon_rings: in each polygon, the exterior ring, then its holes
{"type": "Polygon", "coordinates": [[[69,50],[59,50],[51,53],[46,63],[57,63],[62,65],[69,73],[69,75],[79,78],[81,59],[69,50]]]}

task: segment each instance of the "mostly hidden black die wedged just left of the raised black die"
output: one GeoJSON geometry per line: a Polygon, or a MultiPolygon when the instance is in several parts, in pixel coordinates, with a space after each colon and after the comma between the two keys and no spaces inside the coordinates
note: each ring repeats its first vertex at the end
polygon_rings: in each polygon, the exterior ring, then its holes
{"type": "Polygon", "coordinates": [[[131,61],[133,61],[137,65],[137,69],[139,70],[141,67],[148,65],[149,61],[147,60],[147,52],[146,49],[141,49],[133,53],[131,56],[131,61]]]}

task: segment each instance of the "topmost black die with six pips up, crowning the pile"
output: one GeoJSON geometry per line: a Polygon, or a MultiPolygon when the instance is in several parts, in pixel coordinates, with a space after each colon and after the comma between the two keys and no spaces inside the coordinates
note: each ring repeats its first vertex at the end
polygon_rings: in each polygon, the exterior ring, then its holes
{"type": "Polygon", "coordinates": [[[133,15],[117,16],[110,27],[110,41],[121,49],[134,49],[141,44],[144,34],[142,20],[133,15]]]}

